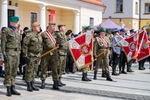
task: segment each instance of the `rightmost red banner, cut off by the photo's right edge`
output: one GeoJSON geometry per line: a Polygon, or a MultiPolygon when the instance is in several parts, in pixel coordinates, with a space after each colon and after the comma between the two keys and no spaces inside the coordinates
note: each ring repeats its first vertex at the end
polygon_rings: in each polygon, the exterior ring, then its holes
{"type": "Polygon", "coordinates": [[[139,34],[139,52],[137,56],[137,60],[140,61],[150,55],[150,46],[148,36],[145,30],[139,34]]]}

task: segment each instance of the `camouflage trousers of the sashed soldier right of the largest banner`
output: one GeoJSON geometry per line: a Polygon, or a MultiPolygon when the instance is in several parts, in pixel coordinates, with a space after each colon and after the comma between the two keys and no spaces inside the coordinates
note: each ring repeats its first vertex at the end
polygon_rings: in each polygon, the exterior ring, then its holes
{"type": "Polygon", "coordinates": [[[96,65],[95,65],[95,71],[98,71],[102,61],[103,61],[102,71],[109,73],[109,55],[108,55],[108,52],[103,53],[101,56],[99,56],[97,58],[96,65]]]}

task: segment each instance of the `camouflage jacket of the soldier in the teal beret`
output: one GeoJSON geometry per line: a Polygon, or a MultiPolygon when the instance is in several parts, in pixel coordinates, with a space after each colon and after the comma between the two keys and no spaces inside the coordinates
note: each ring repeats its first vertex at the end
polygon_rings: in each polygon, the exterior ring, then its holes
{"type": "Polygon", "coordinates": [[[19,55],[21,50],[20,33],[6,28],[1,38],[1,49],[4,55],[19,55]]]}

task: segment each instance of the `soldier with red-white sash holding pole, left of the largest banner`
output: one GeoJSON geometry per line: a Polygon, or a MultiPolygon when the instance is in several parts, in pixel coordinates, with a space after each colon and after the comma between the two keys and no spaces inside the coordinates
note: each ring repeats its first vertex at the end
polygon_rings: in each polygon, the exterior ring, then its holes
{"type": "MultiPolygon", "coordinates": [[[[55,36],[55,23],[50,22],[49,26],[47,27],[47,30],[41,34],[42,39],[43,39],[43,54],[48,52],[49,50],[53,49],[56,47],[56,36],[55,36]]],[[[59,64],[59,59],[58,59],[58,52],[57,50],[45,55],[42,57],[41,60],[41,80],[42,80],[42,85],[41,88],[45,88],[45,80],[46,80],[46,72],[48,68],[48,64],[50,63],[51,69],[52,69],[52,77],[53,77],[53,89],[59,90],[58,87],[58,73],[57,73],[57,68],[59,64]]]]}

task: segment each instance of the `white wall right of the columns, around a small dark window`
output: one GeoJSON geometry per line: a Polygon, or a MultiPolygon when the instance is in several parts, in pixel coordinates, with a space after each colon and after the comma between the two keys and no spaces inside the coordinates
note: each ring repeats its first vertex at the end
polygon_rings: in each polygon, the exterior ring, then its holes
{"type": "Polygon", "coordinates": [[[80,30],[82,30],[82,26],[90,25],[90,17],[94,18],[94,25],[98,25],[102,22],[102,11],[81,7],[80,30]]]}

